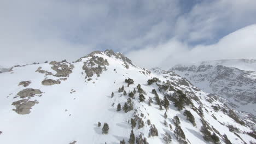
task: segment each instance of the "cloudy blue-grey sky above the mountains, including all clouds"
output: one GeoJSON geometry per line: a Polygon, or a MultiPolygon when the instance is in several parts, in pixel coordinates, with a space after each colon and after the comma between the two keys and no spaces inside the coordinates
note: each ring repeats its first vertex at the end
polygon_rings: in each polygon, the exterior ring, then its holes
{"type": "Polygon", "coordinates": [[[106,49],[143,68],[256,59],[255,0],[2,0],[0,65],[106,49]]]}

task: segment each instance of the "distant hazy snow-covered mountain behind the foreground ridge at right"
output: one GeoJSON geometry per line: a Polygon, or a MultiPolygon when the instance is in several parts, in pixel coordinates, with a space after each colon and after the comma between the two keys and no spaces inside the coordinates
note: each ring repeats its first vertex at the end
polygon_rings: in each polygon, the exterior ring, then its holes
{"type": "Polygon", "coordinates": [[[226,98],[226,104],[256,115],[256,60],[230,59],[176,65],[170,69],[203,91],[226,98]]]}

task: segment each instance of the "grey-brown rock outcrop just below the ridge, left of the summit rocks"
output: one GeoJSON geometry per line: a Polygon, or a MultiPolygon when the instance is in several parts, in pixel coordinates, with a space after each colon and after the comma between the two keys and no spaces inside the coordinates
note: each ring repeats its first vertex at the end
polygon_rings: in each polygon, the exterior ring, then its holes
{"type": "Polygon", "coordinates": [[[57,72],[57,74],[54,75],[56,77],[68,77],[69,74],[71,74],[72,70],[74,69],[74,65],[67,63],[66,61],[63,61],[63,62],[53,61],[53,62],[50,62],[50,64],[53,65],[51,69],[57,72]]]}

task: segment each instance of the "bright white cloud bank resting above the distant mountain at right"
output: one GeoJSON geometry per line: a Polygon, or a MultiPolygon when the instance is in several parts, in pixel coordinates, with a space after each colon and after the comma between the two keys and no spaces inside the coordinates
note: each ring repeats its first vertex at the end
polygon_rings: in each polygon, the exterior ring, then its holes
{"type": "Polygon", "coordinates": [[[241,28],[212,45],[188,46],[171,39],[156,47],[146,47],[127,53],[139,66],[168,69],[176,64],[211,61],[216,59],[256,59],[256,25],[241,28]]]}

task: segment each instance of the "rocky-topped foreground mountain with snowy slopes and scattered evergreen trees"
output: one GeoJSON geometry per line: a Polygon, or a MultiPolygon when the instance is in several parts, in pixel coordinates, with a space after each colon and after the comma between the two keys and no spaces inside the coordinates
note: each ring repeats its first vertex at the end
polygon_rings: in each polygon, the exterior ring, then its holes
{"type": "Polygon", "coordinates": [[[256,143],[252,115],[112,50],[0,80],[0,143],[256,143]]]}

